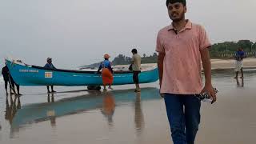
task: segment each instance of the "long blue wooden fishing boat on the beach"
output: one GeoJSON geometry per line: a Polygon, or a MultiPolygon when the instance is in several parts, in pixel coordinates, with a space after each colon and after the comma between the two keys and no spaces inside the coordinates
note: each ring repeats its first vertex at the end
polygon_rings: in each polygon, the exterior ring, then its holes
{"type": "MultiPolygon", "coordinates": [[[[91,70],[47,70],[42,66],[26,65],[21,61],[6,60],[10,74],[20,86],[102,86],[102,76],[91,70]]],[[[132,84],[133,73],[130,70],[114,71],[113,85],[132,84]]],[[[140,83],[158,80],[158,68],[142,70],[140,83]]]]}

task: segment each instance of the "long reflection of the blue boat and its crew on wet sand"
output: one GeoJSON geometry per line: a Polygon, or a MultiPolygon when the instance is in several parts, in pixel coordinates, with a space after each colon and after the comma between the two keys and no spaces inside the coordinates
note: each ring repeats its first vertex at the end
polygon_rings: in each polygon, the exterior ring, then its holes
{"type": "MultiPolygon", "coordinates": [[[[116,106],[134,102],[134,122],[136,130],[140,131],[144,126],[141,98],[144,100],[160,98],[158,89],[143,88],[142,92],[137,93],[137,95],[134,90],[88,91],[88,94],[58,101],[54,101],[54,93],[51,93],[47,95],[46,103],[26,105],[22,106],[22,109],[16,110],[15,113],[17,114],[12,117],[10,124],[11,127],[18,128],[26,124],[50,120],[50,125],[56,126],[56,118],[58,117],[86,113],[90,110],[101,110],[111,127],[114,126],[113,115],[116,106]]],[[[6,106],[9,105],[6,104],[6,106]]]]}

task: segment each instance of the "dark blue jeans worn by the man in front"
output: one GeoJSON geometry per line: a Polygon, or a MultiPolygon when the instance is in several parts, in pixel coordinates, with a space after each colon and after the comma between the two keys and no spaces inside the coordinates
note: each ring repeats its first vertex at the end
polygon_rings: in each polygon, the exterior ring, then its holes
{"type": "Polygon", "coordinates": [[[165,94],[166,112],[174,144],[194,144],[201,101],[194,95],[165,94]]]}

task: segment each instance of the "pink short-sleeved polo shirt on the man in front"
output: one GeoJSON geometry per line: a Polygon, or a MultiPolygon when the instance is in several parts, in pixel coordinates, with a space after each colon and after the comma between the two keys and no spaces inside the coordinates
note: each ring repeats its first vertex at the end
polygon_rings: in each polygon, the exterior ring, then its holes
{"type": "Polygon", "coordinates": [[[199,94],[202,90],[200,50],[209,46],[206,30],[190,21],[178,34],[172,25],[160,30],[156,51],[166,54],[161,93],[199,94]]]}

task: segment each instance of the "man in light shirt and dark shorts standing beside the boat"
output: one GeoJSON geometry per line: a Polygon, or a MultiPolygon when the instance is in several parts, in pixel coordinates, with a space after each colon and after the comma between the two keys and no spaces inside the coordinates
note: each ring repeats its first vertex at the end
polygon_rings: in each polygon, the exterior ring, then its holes
{"type": "Polygon", "coordinates": [[[141,62],[142,58],[138,55],[138,51],[136,49],[131,50],[133,57],[131,58],[132,70],[133,70],[133,79],[136,86],[135,92],[140,92],[141,89],[139,87],[138,74],[141,72],[141,62]]]}

